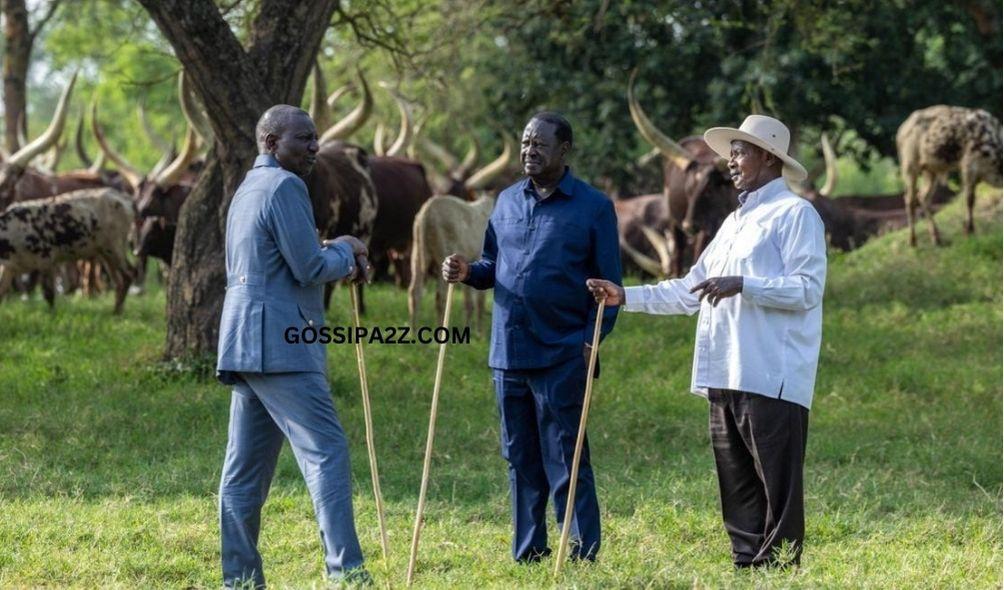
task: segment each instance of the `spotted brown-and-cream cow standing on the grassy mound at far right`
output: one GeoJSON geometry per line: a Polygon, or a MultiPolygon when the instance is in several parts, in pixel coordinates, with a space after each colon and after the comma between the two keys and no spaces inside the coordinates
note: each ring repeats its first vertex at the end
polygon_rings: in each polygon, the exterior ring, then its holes
{"type": "Polygon", "coordinates": [[[906,185],[904,201],[910,226],[910,245],[917,246],[914,229],[915,208],[920,203],[931,228],[931,239],[941,244],[938,226],[932,217],[931,196],[939,181],[958,170],[966,198],[967,234],[973,233],[973,203],[976,185],[981,182],[1001,186],[1001,123],[982,109],[939,104],[915,110],[896,133],[900,172],[906,185]],[[923,195],[917,192],[918,179],[927,180],[923,195]]]}

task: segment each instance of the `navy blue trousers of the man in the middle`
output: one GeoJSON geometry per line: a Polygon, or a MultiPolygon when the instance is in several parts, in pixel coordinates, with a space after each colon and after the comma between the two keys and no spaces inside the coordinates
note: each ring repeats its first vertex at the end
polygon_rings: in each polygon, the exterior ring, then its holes
{"type": "MultiPolygon", "coordinates": [[[[558,527],[564,521],[575,436],[585,392],[581,355],[541,369],[495,369],[495,395],[502,418],[502,457],[509,463],[512,556],[536,561],[547,547],[547,499],[558,527]]],[[[586,441],[579,463],[571,520],[572,559],[595,559],[599,551],[599,505],[586,441]]]]}

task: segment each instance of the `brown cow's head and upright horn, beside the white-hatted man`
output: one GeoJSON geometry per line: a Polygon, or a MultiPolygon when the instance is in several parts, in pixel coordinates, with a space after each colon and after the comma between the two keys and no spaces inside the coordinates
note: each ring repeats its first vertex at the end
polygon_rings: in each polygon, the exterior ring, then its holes
{"type": "Polygon", "coordinates": [[[682,276],[688,263],[697,260],[714,238],[719,226],[738,205],[738,192],[729,178],[725,161],[701,137],[680,143],[661,131],[642,109],[635,96],[635,76],[628,82],[628,106],[642,136],[663,156],[663,195],[669,210],[666,242],[669,266],[666,276],[682,276]],[[688,251],[688,247],[691,247],[688,251]],[[689,255],[689,256],[688,256],[689,255]]]}

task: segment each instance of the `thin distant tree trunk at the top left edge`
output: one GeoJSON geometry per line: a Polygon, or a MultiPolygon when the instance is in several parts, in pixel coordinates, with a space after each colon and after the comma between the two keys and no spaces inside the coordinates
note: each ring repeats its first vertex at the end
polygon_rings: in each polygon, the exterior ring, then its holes
{"type": "Polygon", "coordinates": [[[3,0],[2,9],[4,149],[8,154],[13,154],[20,146],[17,126],[22,125],[25,136],[28,134],[25,86],[33,39],[28,29],[28,9],[24,5],[24,0],[3,0]]]}

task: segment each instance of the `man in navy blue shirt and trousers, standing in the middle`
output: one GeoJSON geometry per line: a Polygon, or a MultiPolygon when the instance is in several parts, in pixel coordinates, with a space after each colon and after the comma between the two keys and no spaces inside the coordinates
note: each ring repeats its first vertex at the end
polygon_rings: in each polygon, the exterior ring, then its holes
{"type": "MultiPolygon", "coordinates": [[[[572,176],[565,166],[571,146],[571,125],[563,116],[535,114],[520,149],[527,178],[499,194],[481,259],[454,254],[443,262],[445,280],[495,290],[488,364],[502,418],[502,456],[509,463],[512,555],[519,562],[550,553],[548,497],[559,526],[564,518],[596,317],[585,280],[598,273],[620,283],[613,205],[572,176]]],[[[616,308],[606,309],[603,335],[615,319],[616,308]]],[[[570,555],[594,560],[599,505],[588,445],[572,516],[570,555]]]]}

